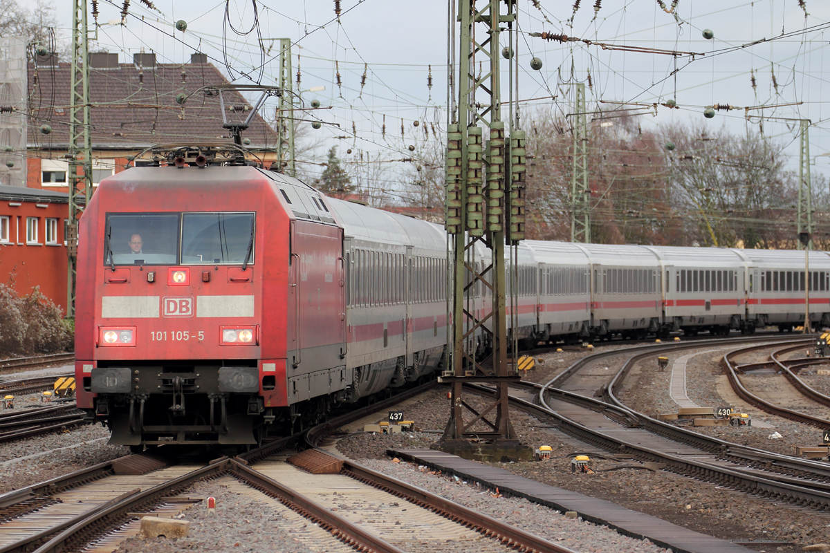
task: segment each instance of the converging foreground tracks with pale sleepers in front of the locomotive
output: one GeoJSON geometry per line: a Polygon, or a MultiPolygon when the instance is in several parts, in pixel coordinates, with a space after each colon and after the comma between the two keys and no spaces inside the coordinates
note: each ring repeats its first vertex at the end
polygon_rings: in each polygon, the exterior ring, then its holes
{"type": "MultiPolygon", "coordinates": [[[[375,410],[383,410],[431,386],[432,383],[409,390],[330,420],[311,429],[305,434],[306,439],[316,443],[331,429],[375,410]]],[[[343,493],[336,497],[337,502],[354,499],[354,502],[375,506],[391,506],[397,502],[398,507],[394,508],[399,518],[428,522],[427,527],[434,526],[436,543],[441,542],[437,551],[446,546],[447,536],[456,536],[461,543],[485,553],[521,548],[524,551],[573,553],[568,548],[374,473],[357,463],[343,462],[342,471],[327,475],[302,472],[286,463],[286,454],[281,454],[298,440],[300,434],[295,434],[237,458],[220,457],[198,463],[149,454],[131,455],[0,495],[0,553],[47,553],[81,547],[83,551],[110,551],[115,541],[129,535],[130,529],[133,533],[137,530],[139,519],[131,513],[171,516],[183,512],[197,501],[185,490],[199,480],[218,477],[232,477],[237,486],[244,483],[251,492],[276,500],[271,507],[281,506],[290,509],[294,517],[304,517],[300,520],[305,522],[298,526],[304,532],[311,531],[305,529],[307,526],[312,526],[312,530],[319,526],[328,531],[333,540],[327,546],[330,551],[346,547],[348,551],[398,553],[402,551],[398,546],[405,546],[407,539],[413,536],[396,535],[396,526],[391,520],[388,524],[358,523],[354,517],[333,512],[331,502],[335,498],[331,497],[331,488],[324,486],[322,491],[320,488],[324,478],[336,479],[336,485],[342,487],[343,493]],[[403,512],[404,509],[407,511],[403,512]],[[308,524],[309,521],[313,524],[308,524]],[[392,537],[386,539],[388,536],[392,537]]],[[[159,449],[159,453],[163,450],[159,449]]],[[[325,456],[312,451],[314,453],[325,456]]],[[[422,531],[415,537],[418,543],[428,541],[422,531]]],[[[315,539],[325,538],[316,536],[315,539]]]]}

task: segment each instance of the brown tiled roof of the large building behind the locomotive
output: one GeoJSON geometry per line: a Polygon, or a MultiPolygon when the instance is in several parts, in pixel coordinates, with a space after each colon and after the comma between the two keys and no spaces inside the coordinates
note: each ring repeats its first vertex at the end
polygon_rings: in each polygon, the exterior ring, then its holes
{"type": "MultiPolygon", "coordinates": [[[[198,92],[183,106],[176,103],[179,94],[190,95],[203,86],[226,83],[222,73],[210,63],[158,64],[144,68],[122,63],[110,68],[93,67],[90,69],[92,147],[135,149],[154,144],[228,142],[228,130],[222,129],[217,97],[208,98],[198,92]]],[[[69,63],[29,63],[30,148],[66,148],[70,85],[69,63]],[[50,125],[51,133],[39,132],[42,124],[50,125]]],[[[244,104],[250,109],[242,95],[223,94],[226,109],[229,104],[244,104]]],[[[247,117],[247,112],[226,113],[229,121],[247,117]]],[[[277,135],[256,114],[250,128],[242,132],[242,138],[251,139],[250,148],[273,148],[277,135]]]]}

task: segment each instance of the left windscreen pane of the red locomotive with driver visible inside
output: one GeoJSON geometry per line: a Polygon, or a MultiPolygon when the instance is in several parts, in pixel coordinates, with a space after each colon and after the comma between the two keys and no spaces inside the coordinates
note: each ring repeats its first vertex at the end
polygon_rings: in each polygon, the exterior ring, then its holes
{"type": "MultiPolygon", "coordinates": [[[[178,264],[178,217],[178,213],[107,214],[104,264],[178,264]]],[[[249,224],[246,245],[250,230],[249,224]]]]}

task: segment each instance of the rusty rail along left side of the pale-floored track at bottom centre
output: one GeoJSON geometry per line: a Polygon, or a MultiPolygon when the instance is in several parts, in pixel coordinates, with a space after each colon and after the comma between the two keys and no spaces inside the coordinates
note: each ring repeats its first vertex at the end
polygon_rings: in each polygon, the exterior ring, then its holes
{"type": "MultiPolygon", "coordinates": [[[[247,483],[251,488],[255,488],[269,497],[274,497],[286,507],[300,513],[300,515],[310,519],[326,531],[330,531],[334,537],[344,544],[354,547],[357,551],[403,553],[402,550],[388,543],[388,541],[383,541],[378,536],[374,536],[374,534],[354,525],[344,517],[330,512],[301,493],[286,488],[276,480],[268,478],[265,474],[249,468],[235,459],[230,461],[230,468],[235,477],[247,483]]],[[[46,553],[46,551],[36,551],[36,553],[46,553]]]]}

